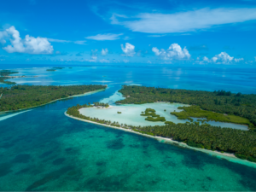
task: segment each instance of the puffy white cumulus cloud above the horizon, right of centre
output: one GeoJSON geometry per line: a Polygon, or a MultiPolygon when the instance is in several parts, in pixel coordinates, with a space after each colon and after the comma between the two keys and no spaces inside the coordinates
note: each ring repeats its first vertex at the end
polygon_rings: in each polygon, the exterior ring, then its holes
{"type": "Polygon", "coordinates": [[[171,44],[169,49],[152,48],[155,55],[159,56],[162,60],[187,60],[190,58],[188,49],[183,49],[178,44],[171,44]]]}

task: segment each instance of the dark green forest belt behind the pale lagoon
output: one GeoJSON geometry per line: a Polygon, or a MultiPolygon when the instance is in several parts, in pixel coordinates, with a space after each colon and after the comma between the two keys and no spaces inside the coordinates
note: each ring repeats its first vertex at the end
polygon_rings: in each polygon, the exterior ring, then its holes
{"type": "MultiPolygon", "coordinates": [[[[230,93],[224,90],[172,90],[164,88],[126,86],[119,90],[126,98],[116,103],[181,102],[197,105],[203,110],[226,113],[248,119],[251,129],[256,125],[256,95],[230,93]]],[[[238,122],[239,123],[239,122],[238,122]]]]}

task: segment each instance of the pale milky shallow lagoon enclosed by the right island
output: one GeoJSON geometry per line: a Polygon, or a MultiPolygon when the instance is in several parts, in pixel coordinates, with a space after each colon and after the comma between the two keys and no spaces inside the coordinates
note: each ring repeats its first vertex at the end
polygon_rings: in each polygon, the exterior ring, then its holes
{"type": "MultiPolygon", "coordinates": [[[[113,96],[102,99],[101,102],[108,102],[113,104],[120,99],[124,99],[120,93],[115,92],[113,96]]],[[[154,108],[155,113],[159,114],[161,117],[165,117],[166,121],[172,121],[173,123],[186,123],[188,119],[177,119],[175,115],[172,115],[171,112],[182,110],[177,109],[178,107],[189,106],[182,103],[170,103],[170,102],[155,102],[155,103],[146,103],[146,104],[125,104],[125,105],[112,105],[111,108],[81,108],[79,111],[85,116],[90,116],[92,118],[105,119],[118,121],[119,124],[127,125],[165,125],[165,122],[152,122],[145,120],[145,116],[140,114],[146,110],[146,108],[154,108]],[[166,110],[166,111],[165,111],[166,110]],[[121,112],[121,113],[117,113],[121,112]]],[[[193,118],[194,121],[200,118],[193,118]]],[[[200,122],[201,124],[201,122],[200,122]]],[[[220,126],[220,127],[230,127],[233,129],[248,130],[247,125],[237,125],[231,123],[223,123],[216,121],[209,121],[207,124],[220,126]]]]}

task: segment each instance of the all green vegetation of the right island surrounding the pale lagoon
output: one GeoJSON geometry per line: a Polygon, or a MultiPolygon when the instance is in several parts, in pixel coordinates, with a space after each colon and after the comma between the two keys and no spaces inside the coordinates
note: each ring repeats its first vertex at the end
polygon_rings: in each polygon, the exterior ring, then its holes
{"type": "MultiPolygon", "coordinates": [[[[221,120],[223,122],[246,124],[250,129],[249,131],[242,131],[208,124],[200,125],[199,122],[175,124],[171,121],[166,121],[166,125],[123,125],[115,121],[111,122],[110,120],[85,116],[79,113],[79,109],[84,108],[83,105],[68,108],[67,115],[102,125],[120,127],[149,136],[170,138],[177,142],[186,143],[194,148],[205,148],[212,151],[235,154],[237,158],[242,160],[256,162],[255,95],[233,94],[225,92],[224,90],[214,92],[201,90],[171,90],[134,85],[124,85],[119,92],[125,96],[125,100],[116,102],[118,104],[181,102],[193,106],[180,108],[183,109],[182,112],[174,113],[178,118],[189,119],[190,115],[192,115],[191,117],[206,118],[207,120],[221,120]]],[[[141,115],[149,116],[154,119],[154,116],[157,114],[154,113],[154,109],[148,109],[142,112],[141,115]]],[[[207,120],[199,119],[198,121],[204,123],[207,120]]]]}

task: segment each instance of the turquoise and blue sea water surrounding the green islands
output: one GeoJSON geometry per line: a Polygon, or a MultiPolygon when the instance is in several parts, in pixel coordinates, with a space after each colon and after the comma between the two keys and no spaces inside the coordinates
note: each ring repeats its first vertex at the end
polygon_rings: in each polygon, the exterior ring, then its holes
{"type": "Polygon", "coordinates": [[[253,167],[64,115],[78,103],[108,99],[121,84],[255,93],[252,69],[226,70],[225,79],[216,74],[220,69],[210,75],[212,69],[186,68],[179,76],[166,74],[176,69],[160,67],[73,67],[72,72],[65,69],[49,76],[42,68],[19,70],[39,75],[20,79],[20,84],[102,84],[105,78],[108,89],[24,113],[0,114],[1,192],[256,191],[253,167]]]}

